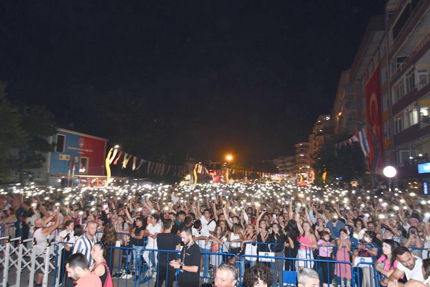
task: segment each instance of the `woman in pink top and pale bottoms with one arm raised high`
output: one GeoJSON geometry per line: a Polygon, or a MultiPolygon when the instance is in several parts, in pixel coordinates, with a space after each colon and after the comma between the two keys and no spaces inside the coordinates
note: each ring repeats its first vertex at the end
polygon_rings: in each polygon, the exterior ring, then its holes
{"type": "MultiPolygon", "coordinates": [[[[300,215],[296,213],[295,220],[299,222],[300,215]]],[[[305,221],[302,225],[297,224],[298,232],[300,233],[300,238],[298,242],[300,243],[300,247],[298,248],[297,258],[303,259],[314,259],[314,254],[312,252],[313,248],[318,248],[317,237],[314,234],[314,230],[312,230],[312,225],[310,222],[305,221]]],[[[298,268],[313,268],[313,261],[298,261],[298,268]]]]}

